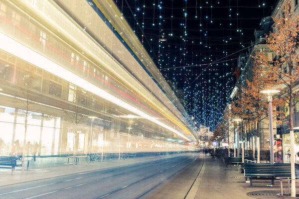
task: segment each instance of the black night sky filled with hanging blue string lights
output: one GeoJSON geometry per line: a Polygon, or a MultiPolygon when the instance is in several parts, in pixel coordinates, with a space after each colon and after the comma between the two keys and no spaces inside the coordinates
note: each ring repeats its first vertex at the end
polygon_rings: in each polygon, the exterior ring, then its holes
{"type": "Polygon", "coordinates": [[[276,0],[115,2],[197,126],[213,130],[236,82],[237,58],[276,0]]]}

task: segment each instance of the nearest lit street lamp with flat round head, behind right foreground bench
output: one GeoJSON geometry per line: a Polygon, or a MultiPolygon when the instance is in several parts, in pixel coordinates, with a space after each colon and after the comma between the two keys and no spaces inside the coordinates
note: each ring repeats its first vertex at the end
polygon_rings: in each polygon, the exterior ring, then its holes
{"type": "MultiPolygon", "coordinates": [[[[274,164],[274,136],[273,136],[273,116],[272,116],[272,95],[279,93],[278,90],[265,90],[261,91],[267,94],[269,103],[269,132],[270,132],[270,164],[274,164]]],[[[290,110],[291,111],[291,110],[290,110]]]]}

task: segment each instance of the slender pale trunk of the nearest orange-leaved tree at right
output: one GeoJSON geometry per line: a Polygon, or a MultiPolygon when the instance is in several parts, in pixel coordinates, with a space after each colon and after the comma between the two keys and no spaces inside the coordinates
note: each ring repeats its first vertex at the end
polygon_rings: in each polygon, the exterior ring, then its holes
{"type": "Polygon", "coordinates": [[[289,101],[289,126],[290,126],[290,145],[291,145],[291,197],[296,197],[296,176],[295,176],[295,140],[293,126],[293,85],[290,85],[290,101],[289,101]]]}

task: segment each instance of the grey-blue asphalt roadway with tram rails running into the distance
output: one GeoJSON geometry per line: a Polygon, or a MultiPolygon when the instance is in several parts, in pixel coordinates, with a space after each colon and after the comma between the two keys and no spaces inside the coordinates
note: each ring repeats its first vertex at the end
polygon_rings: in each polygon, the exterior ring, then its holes
{"type": "Polygon", "coordinates": [[[176,183],[173,190],[181,194],[176,195],[177,199],[183,199],[196,179],[200,162],[202,157],[189,153],[143,164],[2,186],[0,199],[145,199],[161,196],[165,199],[166,196],[170,198],[166,192],[171,192],[169,187],[178,180],[182,183],[176,183]],[[190,172],[193,178],[189,177],[190,172]]]}

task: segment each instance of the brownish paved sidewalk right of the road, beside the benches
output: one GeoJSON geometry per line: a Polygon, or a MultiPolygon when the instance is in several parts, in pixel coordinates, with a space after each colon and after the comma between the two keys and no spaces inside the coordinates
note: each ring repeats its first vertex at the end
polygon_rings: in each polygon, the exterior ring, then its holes
{"type": "Polygon", "coordinates": [[[274,187],[267,187],[268,184],[271,184],[270,180],[254,180],[253,187],[250,187],[245,183],[244,174],[238,173],[237,166],[226,168],[222,159],[206,157],[194,183],[198,188],[194,199],[287,199],[277,196],[280,193],[279,181],[275,181],[274,187]]]}

